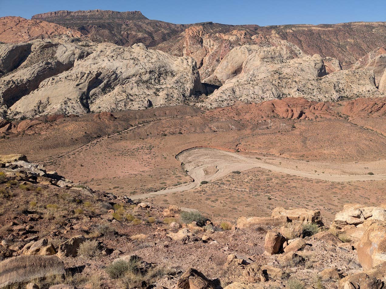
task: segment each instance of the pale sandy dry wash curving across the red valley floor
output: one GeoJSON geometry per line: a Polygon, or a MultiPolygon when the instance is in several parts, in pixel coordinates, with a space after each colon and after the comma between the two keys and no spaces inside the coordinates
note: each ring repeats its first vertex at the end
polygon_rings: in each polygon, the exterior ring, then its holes
{"type": "Polygon", "coordinates": [[[334,171],[340,171],[341,173],[316,173],[315,171],[320,171],[320,163],[286,159],[286,163],[296,163],[299,169],[295,170],[292,168],[272,164],[273,161],[278,161],[280,158],[262,158],[259,160],[249,156],[240,155],[239,153],[231,153],[228,151],[221,151],[211,148],[195,148],[186,150],[180,153],[177,156],[177,159],[185,164],[185,169],[188,171],[188,175],[193,178],[193,182],[175,188],[136,195],[131,197],[132,200],[191,190],[198,187],[201,181],[218,180],[219,178],[228,175],[232,171],[245,171],[251,168],[263,168],[266,170],[276,171],[278,173],[325,181],[348,182],[386,180],[386,174],[363,174],[362,167],[364,164],[361,163],[349,165],[349,170],[352,171],[353,174],[343,173],[343,171],[348,170],[348,165],[339,163],[323,163],[322,165],[324,167],[330,166],[334,168],[334,171]],[[215,168],[215,170],[213,170],[213,168],[215,168]],[[208,173],[208,171],[210,171],[210,173],[208,173]]]}

